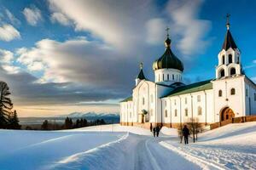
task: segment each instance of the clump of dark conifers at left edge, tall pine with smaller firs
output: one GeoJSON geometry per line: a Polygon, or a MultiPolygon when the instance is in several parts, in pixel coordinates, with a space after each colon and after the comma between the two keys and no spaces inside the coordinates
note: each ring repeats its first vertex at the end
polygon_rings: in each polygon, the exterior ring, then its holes
{"type": "Polygon", "coordinates": [[[0,82],[0,128],[20,129],[17,111],[13,111],[13,103],[9,97],[9,86],[0,82]]]}

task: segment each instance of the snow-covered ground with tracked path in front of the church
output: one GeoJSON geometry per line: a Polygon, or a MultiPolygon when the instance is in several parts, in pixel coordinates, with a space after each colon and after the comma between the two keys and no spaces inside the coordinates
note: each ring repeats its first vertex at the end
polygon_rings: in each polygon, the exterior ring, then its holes
{"type": "Polygon", "coordinates": [[[65,131],[0,130],[0,169],[256,169],[256,122],[201,133],[105,125],[65,131]],[[191,141],[191,139],[190,139],[191,141]]]}

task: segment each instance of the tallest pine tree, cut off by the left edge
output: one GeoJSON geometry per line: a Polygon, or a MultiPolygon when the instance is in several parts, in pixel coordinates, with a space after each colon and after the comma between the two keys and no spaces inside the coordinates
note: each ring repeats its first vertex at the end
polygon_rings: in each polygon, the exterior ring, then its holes
{"type": "Polygon", "coordinates": [[[0,82],[0,128],[7,128],[9,116],[13,109],[13,104],[9,98],[9,87],[6,82],[0,82]]]}

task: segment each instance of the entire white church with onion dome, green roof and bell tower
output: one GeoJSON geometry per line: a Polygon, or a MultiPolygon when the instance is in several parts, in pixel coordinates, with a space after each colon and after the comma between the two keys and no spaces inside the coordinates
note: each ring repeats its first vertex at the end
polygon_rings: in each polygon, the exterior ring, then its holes
{"type": "Polygon", "coordinates": [[[242,70],[229,21],[226,26],[216,77],[189,85],[183,83],[183,62],[172,53],[167,31],[166,50],[153,63],[154,81],[144,76],[141,64],[132,96],[120,102],[120,124],[178,127],[193,120],[208,126],[256,114],[256,85],[242,70]]]}

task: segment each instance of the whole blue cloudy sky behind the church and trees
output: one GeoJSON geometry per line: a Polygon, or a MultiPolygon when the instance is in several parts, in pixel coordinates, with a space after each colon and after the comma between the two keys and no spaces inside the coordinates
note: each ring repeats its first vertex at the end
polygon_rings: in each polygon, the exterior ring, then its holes
{"type": "Polygon", "coordinates": [[[243,69],[256,82],[255,8],[253,0],[0,0],[0,80],[19,116],[119,112],[140,62],[154,80],[167,26],[183,81],[214,78],[229,13],[243,69]]]}

